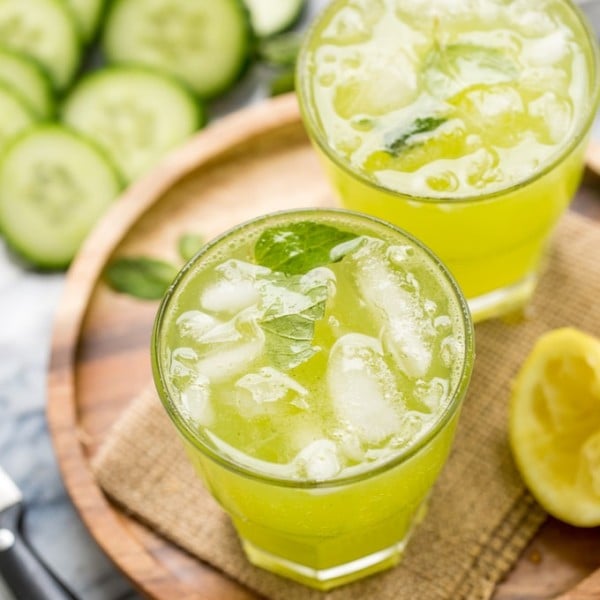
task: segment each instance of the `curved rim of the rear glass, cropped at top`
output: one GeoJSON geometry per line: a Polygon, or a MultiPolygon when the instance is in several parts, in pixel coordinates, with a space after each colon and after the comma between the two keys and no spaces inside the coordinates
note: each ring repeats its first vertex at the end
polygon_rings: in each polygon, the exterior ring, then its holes
{"type": "Polygon", "coordinates": [[[498,196],[505,196],[516,190],[525,187],[538,179],[541,179],[551,171],[553,171],[563,160],[565,160],[577,147],[582,143],[589,131],[591,130],[592,124],[594,123],[596,112],[598,109],[598,103],[600,100],[600,77],[598,76],[600,69],[600,48],[596,40],[596,33],[592,28],[592,25],[584,14],[582,9],[576,5],[573,0],[564,0],[564,3],[569,7],[571,12],[575,15],[578,23],[581,25],[585,33],[585,41],[582,41],[582,48],[584,54],[590,60],[590,69],[588,71],[589,80],[591,84],[590,93],[587,95],[589,98],[588,113],[584,117],[580,117],[577,121],[577,129],[574,131],[573,136],[569,143],[564,144],[559,148],[559,152],[551,158],[548,162],[543,164],[543,167],[539,171],[535,171],[530,176],[520,179],[515,183],[502,187],[500,189],[493,190],[487,193],[468,193],[462,195],[451,195],[446,196],[423,196],[418,194],[412,194],[409,192],[400,192],[392,188],[386,187],[372,179],[366,177],[362,171],[358,171],[352,168],[348,162],[344,161],[327,143],[327,136],[325,132],[321,131],[321,128],[317,126],[317,120],[315,118],[316,110],[309,102],[309,84],[308,78],[303,77],[302,73],[305,72],[304,65],[308,60],[308,46],[312,39],[317,26],[325,18],[327,14],[333,12],[335,5],[340,0],[334,0],[328,6],[326,6],[320,14],[311,23],[308,28],[298,59],[296,61],[295,69],[295,80],[296,80],[296,92],[298,95],[298,106],[300,108],[300,114],[302,121],[304,122],[305,129],[309,137],[313,142],[320,148],[323,154],[339,169],[344,171],[347,175],[353,179],[359,181],[365,186],[374,189],[378,192],[383,192],[388,196],[393,196],[395,199],[405,199],[411,202],[423,202],[427,204],[468,204],[476,203],[480,201],[490,200],[498,196]]]}

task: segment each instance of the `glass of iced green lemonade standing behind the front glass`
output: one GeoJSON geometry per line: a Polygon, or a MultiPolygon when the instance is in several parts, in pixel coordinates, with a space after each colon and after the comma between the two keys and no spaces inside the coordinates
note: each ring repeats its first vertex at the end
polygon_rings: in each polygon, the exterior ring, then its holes
{"type": "Polygon", "coordinates": [[[579,183],[594,34],[565,0],[334,0],[298,64],[342,204],[415,234],[476,319],[522,305],[579,183]]]}

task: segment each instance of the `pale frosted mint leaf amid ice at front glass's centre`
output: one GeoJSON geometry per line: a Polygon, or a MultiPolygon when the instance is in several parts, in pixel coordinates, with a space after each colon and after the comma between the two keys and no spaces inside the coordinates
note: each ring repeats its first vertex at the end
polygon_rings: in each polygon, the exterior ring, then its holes
{"type": "Polygon", "coordinates": [[[315,322],[325,315],[328,287],[325,280],[300,275],[276,275],[261,289],[265,346],[271,364],[287,371],[318,352],[313,346],[315,322]]]}

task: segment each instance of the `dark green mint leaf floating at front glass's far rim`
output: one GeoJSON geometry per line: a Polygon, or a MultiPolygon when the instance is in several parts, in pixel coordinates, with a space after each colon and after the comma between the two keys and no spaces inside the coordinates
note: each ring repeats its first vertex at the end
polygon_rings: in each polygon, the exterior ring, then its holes
{"type": "Polygon", "coordinates": [[[352,239],[358,236],[329,225],[300,221],[263,231],[254,246],[254,258],[273,271],[297,275],[341,260],[353,246],[341,254],[334,249],[352,239]]]}

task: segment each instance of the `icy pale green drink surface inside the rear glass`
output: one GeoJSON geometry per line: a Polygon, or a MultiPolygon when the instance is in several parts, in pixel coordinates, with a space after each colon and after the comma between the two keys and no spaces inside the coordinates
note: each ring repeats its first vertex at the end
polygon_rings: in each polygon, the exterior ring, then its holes
{"type": "Polygon", "coordinates": [[[560,157],[594,101],[574,10],[563,0],[334,1],[301,58],[313,135],[405,194],[516,185],[560,157]]]}

